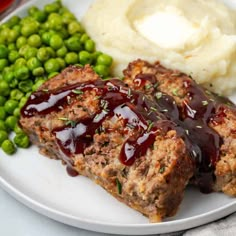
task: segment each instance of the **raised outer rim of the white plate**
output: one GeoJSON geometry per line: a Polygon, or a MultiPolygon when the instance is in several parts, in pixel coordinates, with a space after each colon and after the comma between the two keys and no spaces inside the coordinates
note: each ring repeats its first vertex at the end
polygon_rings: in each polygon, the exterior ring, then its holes
{"type": "MultiPolygon", "coordinates": [[[[6,22],[10,17],[16,15],[27,9],[28,7],[37,4],[40,0],[31,0],[24,3],[22,6],[15,9],[5,18],[3,18],[0,23],[6,22]]],[[[45,2],[50,3],[54,0],[45,0],[45,2]]],[[[44,1],[43,1],[44,2],[44,1]]],[[[161,223],[141,223],[141,224],[122,224],[122,223],[105,223],[104,221],[95,221],[89,219],[82,219],[67,213],[63,213],[60,210],[49,207],[40,201],[37,201],[25,194],[19,188],[15,187],[13,184],[9,183],[0,173],[0,187],[9,193],[17,201],[21,202],[25,206],[31,208],[37,213],[44,215],[55,221],[74,226],[77,228],[90,230],[100,233],[112,233],[112,234],[123,234],[123,235],[150,235],[157,233],[171,233],[177,231],[187,230],[193,227],[197,227],[203,224],[210,223],[212,221],[218,220],[222,217],[230,215],[236,212],[236,199],[235,201],[228,203],[225,206],[219,207],[215,210],[211,210],[207,213],[202,213],[196,216],[177,219],[173,221],[166,221],[161,223]]]]}

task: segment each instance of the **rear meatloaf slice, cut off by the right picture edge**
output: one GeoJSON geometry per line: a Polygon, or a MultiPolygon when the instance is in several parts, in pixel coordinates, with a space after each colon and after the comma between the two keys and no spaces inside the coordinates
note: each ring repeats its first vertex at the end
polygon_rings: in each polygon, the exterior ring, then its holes
{"type": "MultiPolygon", "coordinates": [[[[158,101],[164,96],[176,102],[178,112],[169,111],[167,116],[174,121],[179,119],[176,122],[186,129],[202,151],[197,160],[195,183],[203,191],[209,188],[207,191],[223,191],[236,196],[235,105],[197,85],[190,76],[167,69],[159,62],[134,61],[124,70],[124,76],[126,84],[149,98],[158,101]]],[[[168,103],[159,103],[159,106],[170,107],[168,103]]]]}

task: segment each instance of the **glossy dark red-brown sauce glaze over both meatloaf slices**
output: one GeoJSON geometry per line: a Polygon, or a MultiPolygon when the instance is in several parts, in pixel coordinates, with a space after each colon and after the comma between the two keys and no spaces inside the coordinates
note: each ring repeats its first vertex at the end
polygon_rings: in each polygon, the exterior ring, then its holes
{"type": "MultiPolygon", "coordinates": [[[[153,86],[156,83],[148,74],[137,76],[134,82],[139,87],[146,80],[151,81],[153,86]]],[[[78,93],[83,94],[85,91],[96,91],[100,102],[97,114],[76,123],[67,121],[64,126],[52,131],[63,155],[70,159],[74,154],[83,153],[107,118],[122,118],[124,126],[135,130],[136,135],[127,138],[120,152],[120,161],[127,166],[146,153],[156,135],[175,129],[185,140],[189,154],[196,163],[196,184],[202,192],[207,193],[212,191],[215,164],[219,160],[222,144],[220,136],[207,122],[213,119],[219,103],[206,97],[204,91],[192,81],[186,81],[185,87],[188,99],[185,101],[184,115],[181,115],[171,96],[164,93],[155,96],[158,88],[152,94],[156,99],[150,100],[143,93],[127,88],[117,79],[76,83],[55,91],[37,91],[30,96],[21,115],[32,117],[57,112],[63,106],[68,106],[68,97],[78,96],[78,93]],[[202,101],[205,101],[204,104],[202,101]]],[[[216,118],[216,122],[217,119],[219,118],[216,118]]],[[[74,172],[72,174],[75,175],[74,172]]]]}

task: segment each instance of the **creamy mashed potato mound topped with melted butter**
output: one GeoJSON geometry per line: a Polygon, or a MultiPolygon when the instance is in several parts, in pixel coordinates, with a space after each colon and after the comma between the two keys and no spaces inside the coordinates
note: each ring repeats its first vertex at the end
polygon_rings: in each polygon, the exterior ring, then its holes
{"type": "Polygon", "coordinates": [[[217,93],[236,89],[236,12],[217,0],[96,0],[82,22],[114,75],[159,60],[217,93]]]}

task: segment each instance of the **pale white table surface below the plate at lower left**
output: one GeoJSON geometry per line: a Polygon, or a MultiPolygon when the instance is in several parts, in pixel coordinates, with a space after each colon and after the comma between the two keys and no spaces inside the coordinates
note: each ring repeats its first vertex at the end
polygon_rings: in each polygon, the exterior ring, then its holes
{"type": "Polygon", "coordinates": [[[16,201],[0,188],[1,236],[107,236],[61,224],[16,201]]]}

